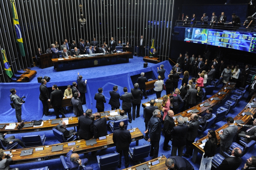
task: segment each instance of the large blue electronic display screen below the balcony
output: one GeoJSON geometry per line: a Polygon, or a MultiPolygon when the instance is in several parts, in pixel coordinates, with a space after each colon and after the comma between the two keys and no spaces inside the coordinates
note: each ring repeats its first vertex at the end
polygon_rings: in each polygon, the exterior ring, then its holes
{"type": "Polygon", "coordinates": [[[233,48],[256,53],[255,33],[202,28],[186,28],[184,41],[233,48]]]}

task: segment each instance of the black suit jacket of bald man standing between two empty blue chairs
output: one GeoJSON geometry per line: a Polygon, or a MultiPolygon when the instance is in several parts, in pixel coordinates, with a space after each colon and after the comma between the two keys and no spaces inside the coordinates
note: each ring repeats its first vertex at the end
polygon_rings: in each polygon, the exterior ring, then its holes
{"type": "Polygon", "coordinates": [[[116,145],[116,150],[128,150],[132,142],[131,133],[126,129],[114,130],[113,142],[116,145]]]}

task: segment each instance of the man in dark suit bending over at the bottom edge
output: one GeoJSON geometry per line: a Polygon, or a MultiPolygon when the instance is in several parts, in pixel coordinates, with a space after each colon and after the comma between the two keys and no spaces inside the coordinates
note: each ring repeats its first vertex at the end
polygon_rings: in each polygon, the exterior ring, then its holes
{"type": "Polygon", "coordinates": [[[165,166],[168,167],[168,170],[194,170],[194,167],[190,162],[180,156],[171,156],[165,160],[165,166]]]}

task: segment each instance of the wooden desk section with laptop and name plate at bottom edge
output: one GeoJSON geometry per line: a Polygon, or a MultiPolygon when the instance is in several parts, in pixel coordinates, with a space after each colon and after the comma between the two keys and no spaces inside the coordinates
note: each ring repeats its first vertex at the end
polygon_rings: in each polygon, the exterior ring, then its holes
{"type": "Polygon", "coordinates": [[[156,164],[156,165],[151,165],[151,167],[150,167],[150,170],[165,170],[165,168],[166,168],[166,166],[165,166],[165,160],[167,159],[164,155],[163,155],[163,158],[161,158],[161,157],[158,157],[158,158],[156,158],[156,159],[152,159],[152,160],[149,160],[149,161],[147,161],[147,162],[143,162],[143,163],[141,163],[141,164],[139,164],[139,165],[135,165],[135,166],[132,166],[132,167],[129,167],[129,168],[125,168],[125,169],[123,169],[123,170],[127,170],[127,169],[131,169],[131,170],[136,170],[136,167],[138,167],[138,166],[141,166],[141,165],[143,165],[143,164],[147,164],[148,165],[148,162],[154,162],[154,161],[156,161],[157,159],[159,159],[159,164],[156,164]]]}

